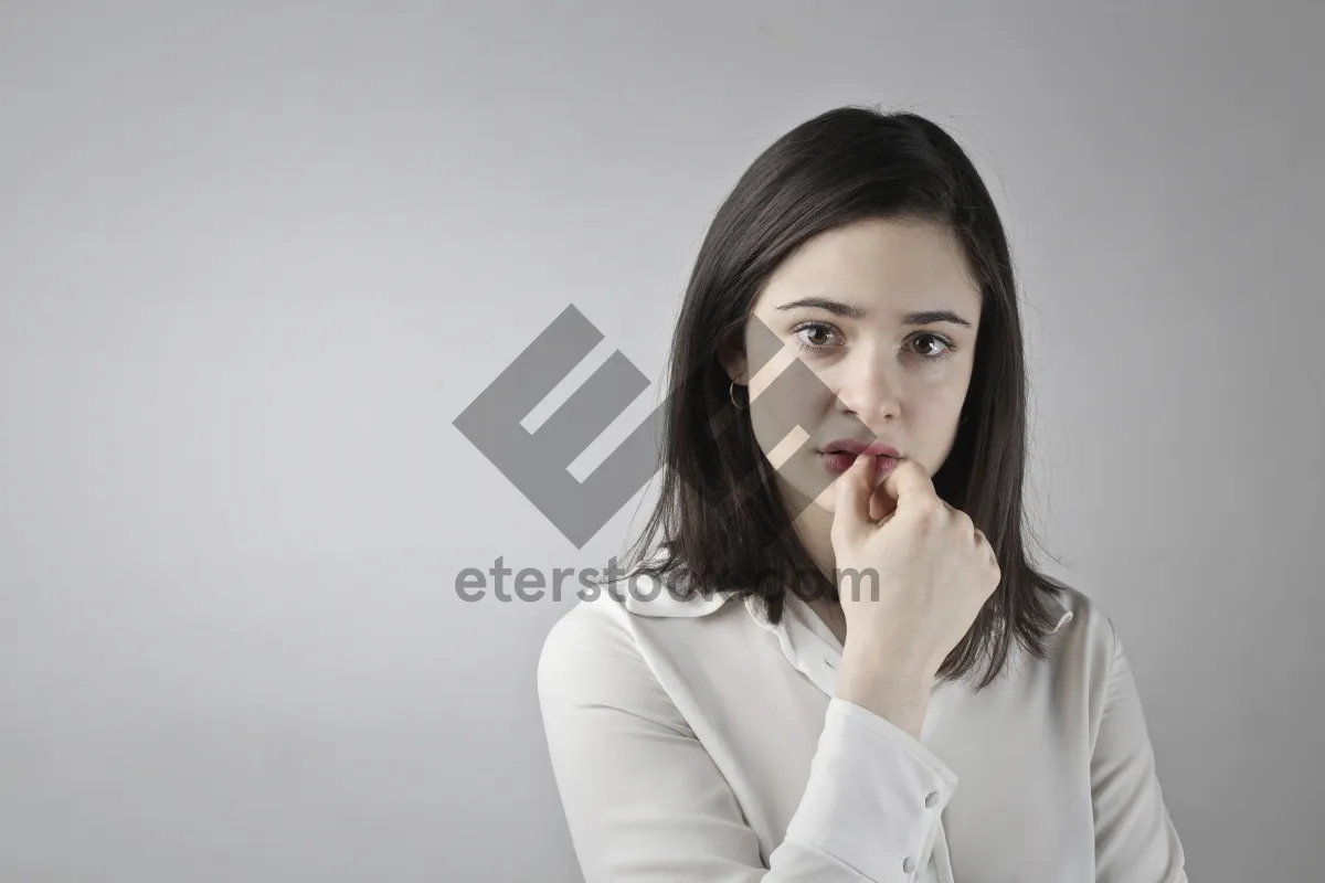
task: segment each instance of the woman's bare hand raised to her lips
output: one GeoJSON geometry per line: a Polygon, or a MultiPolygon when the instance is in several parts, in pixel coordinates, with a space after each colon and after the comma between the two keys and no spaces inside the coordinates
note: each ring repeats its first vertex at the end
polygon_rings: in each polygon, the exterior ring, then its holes
{"type": "Polygon", "coordinates": [[[847,620],[837,695],[918,736],[934,675],[1003,575],[920,463],[898,462],[878,490],[873,477],[874,458],[860,455],[837,479],[831,537],[847,620]]]}

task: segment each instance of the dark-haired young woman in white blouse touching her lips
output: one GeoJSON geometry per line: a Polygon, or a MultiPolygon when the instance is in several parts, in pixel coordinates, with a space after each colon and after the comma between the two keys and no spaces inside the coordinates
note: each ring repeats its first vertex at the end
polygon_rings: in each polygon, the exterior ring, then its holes
{"type": "Polygon", "coordinates": [[[768,147],[697,258],[662,483],[538,691],[588,883],[1186,880],[1113,624],[1024,543],[995,205],[914,114],[768,147]]]}

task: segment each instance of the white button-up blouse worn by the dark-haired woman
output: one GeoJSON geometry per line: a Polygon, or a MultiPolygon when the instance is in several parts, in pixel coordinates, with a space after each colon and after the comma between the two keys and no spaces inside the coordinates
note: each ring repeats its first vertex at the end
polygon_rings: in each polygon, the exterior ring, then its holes
{"type": "Polygon", "coordinates": [[[1047,661],[935,682],[918,740],[835,698],[841,642],[791,593],[778,626],[730,592],[615,594],[558,620],[538,663],[587,883],[1187,880],[1132,669],[1084,593],[1064,586],[1047,661]]]}

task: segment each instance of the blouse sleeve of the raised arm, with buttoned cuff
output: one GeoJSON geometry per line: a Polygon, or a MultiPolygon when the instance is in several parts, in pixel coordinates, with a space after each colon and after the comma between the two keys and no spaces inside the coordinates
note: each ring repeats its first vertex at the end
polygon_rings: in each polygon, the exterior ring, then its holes
{"type": "Polygon", "coordinates": [[[833,698],[786,838],[759,841],[625,630],[559,620],[538,663],[556,788],[586,883],[920,879],[957,777],[909,733],[833,698]]]}

